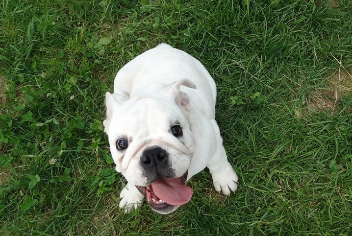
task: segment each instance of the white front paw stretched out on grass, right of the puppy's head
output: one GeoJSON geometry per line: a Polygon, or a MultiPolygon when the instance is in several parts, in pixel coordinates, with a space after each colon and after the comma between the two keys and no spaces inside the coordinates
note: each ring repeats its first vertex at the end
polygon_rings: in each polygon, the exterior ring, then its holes
{"type": "Polygon", "coordinates": [[[238,186],[238,176],[231,168],[221,173],[212,173],[214,188],[218,192],[230,195],[231,191],[236,192],[238,186]]]}

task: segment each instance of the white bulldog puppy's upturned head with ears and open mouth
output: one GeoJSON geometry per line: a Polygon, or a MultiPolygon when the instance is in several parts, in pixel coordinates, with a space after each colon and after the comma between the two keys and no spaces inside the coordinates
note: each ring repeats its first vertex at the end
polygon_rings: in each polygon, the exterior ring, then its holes
{"type": "Polygon", "coordinates": [[[196,89],[182,79],[162,86],[158,94],[106,93],[104,131],[116,170],[163,214],[175,211],[193,194],[185,185],[193,154],[191,108],[180,86],[196,89]]]}

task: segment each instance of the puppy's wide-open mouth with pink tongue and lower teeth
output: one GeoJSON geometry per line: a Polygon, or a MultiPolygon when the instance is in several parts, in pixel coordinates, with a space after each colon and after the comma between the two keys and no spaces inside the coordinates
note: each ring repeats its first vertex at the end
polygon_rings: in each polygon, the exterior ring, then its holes
{"type": "Polygon", "coordinates": [[[187,172],[179,178],[159,178],[148,186],[136,187],[146,197],[153,210],[166,213],[191,199],[193,190],[185,185],[186,179],[187,172]]]}

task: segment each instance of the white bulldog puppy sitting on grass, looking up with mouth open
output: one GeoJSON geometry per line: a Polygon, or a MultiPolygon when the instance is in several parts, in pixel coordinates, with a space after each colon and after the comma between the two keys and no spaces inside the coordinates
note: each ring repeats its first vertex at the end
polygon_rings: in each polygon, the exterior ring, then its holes
{"type": "Polygon", "coordinates": [[[120,208],[136,209],[146,197],[168,214],[192,197],[185,185],[208,167],[215,190],[229,195],[238,177],[228,163],[215,121],[216,86],[194,57],[167,44],[127,63],[106,93],[104,131],[127,184],[120,208]]]}

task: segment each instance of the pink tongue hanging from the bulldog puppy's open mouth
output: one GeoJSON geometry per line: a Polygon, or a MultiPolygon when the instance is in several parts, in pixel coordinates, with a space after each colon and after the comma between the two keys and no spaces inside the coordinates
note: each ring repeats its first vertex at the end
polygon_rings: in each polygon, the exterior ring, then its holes
{"type": "Polygon", "coordinates": [[[192,188],[183,185],[180,179],[158,179],[151,187],[158,198],[173,206],[187,203],[193,194],[192,188]]]}

